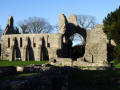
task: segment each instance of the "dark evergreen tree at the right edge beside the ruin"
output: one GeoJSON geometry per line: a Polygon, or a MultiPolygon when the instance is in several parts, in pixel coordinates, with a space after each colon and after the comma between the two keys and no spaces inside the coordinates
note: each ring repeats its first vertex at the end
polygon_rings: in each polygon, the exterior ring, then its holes
{"type": "Polygon", "coordinates": [[[116,47],[114,49],[115,59],[120,62],[120,7],[105,17],[104,32],[109,41],[114,40],[116,47]]]}

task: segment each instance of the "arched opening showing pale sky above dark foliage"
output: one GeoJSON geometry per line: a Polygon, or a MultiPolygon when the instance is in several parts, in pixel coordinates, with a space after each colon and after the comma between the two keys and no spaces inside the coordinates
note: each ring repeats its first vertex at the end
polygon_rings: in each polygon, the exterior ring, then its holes
{"type": "Polygon", "coordinates": [[[66,41],[67,58],[81,58],[85,53],[85,40],[79,33],[75,33],[66,41]]]}

